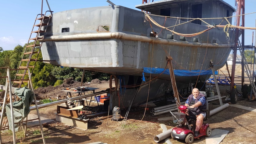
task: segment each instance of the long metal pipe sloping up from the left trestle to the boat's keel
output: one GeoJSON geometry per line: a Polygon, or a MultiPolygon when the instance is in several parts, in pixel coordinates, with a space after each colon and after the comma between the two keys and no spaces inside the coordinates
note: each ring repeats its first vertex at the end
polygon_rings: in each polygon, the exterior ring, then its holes
{"type": "MultiPolygon", "coordinates": [[[[61,99],[61,100],[58,100],[58,101],[55,101],[55,102],[50,102],[50,103],[47,103],[47,104],[37,105],[37,107],[38,108],[49,107],[49,106],[52,106],[52,105],[58,105],[58,104],[61,104],[63,102],[67,102],[68,100],[83,99],[83,98],[86,98],[86,97],[95,96],[95,95],[99,95],[99,94],[104,94],[104,93],[107,93],[107,92],[109,92],[109,91],[105,90],[105,91],[99,91],[99,92],[96,92],[96,93],[86,94],[86,95],[82,95],[82,96],[76,96],[76,97],[72,97],[72,98],[69,98],[69,99],[61,99]]],[[[36,106],[31,106],[29,108],[30,108],[30,110],[35,110],[36,106]]]]}

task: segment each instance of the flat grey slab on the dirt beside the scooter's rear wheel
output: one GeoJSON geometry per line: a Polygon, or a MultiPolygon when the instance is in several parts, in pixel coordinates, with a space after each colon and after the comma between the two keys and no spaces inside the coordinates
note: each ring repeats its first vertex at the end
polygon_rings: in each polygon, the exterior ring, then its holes
{"type": "Polygon", "coordinates": [[[222,130],[222,129],[214,129],[211,131],[211,137],[206,137],[206,144],[219,144],[225,136],[228,134],[229,131],[222,130]]]}

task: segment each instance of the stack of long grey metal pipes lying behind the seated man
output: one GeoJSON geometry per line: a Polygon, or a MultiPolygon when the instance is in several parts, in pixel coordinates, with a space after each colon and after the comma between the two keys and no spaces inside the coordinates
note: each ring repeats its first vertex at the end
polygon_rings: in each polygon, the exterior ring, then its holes
{"type": "MultiPolygon", "coordinates": [[[[222,96],[221,98],[225,98],[226,96],[222,96]]],[[[210,101],[214,101],[214,100],[219,100],[218,96],[211,96],[211,97],[207,97],[208,102],[210,101]]],[[[185,104],[184,102],[181,102],[181,105],[185,104]]],[[[174,104],[170,104],[170,105],[164,105],[161,107],[154,107],[152,108],[152,110],[150,111],[150,113],[152,113],[152,116],[157,116],[157,115],[161,115],[164,113],[170,113],[173,111],[178,110],[176,103],[174,104]]]]}

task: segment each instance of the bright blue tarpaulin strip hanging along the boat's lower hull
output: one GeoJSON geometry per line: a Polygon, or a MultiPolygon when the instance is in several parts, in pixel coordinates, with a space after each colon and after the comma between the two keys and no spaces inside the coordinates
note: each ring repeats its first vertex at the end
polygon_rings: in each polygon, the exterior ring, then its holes
{"type": "MultiPolygon", "coordinates": [[[[212,75],[211,69],[209,70],[181,70],[181,69],[174,69],[175,76],[198,76],[198,75],[212,75]]],[[[151,74],[160,74],[162,73],[169,75],[169,69],[162,69],[162,68],[151,68],[151,67],[143,67],[143,81],[145,81],[144,73],[151,73],[151,74]],[[164,72],[163,72],[164,71],[164,72]]]]}

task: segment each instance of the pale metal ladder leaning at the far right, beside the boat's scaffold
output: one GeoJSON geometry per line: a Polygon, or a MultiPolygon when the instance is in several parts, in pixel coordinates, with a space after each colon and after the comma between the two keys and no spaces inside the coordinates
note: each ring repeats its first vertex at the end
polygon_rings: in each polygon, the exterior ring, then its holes
{"type": "Polygon", "coordinates": [[[250,81],[250,84],[252,86],[253,93],[256,96],[256,86],[255,86],[255,83],[254,83],[254,77],[252,77],[252,74],[250,72],[250,68],[249,68],[248,63],[246,61],[246,58],[245,58],[245,55],[244,55],[244,50],[242,48],[242,45],[241,45],[241,42],[240,42],[239,39],[238,39],[238,49],[241,53],[242,61],[244,63],[245,69],[246,69],[246,71],[245,71],[246,75],[247,75],[247,77],[249,77],[249,81],[250,81]]]}

